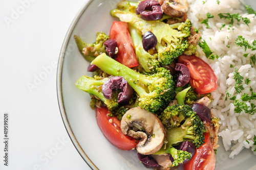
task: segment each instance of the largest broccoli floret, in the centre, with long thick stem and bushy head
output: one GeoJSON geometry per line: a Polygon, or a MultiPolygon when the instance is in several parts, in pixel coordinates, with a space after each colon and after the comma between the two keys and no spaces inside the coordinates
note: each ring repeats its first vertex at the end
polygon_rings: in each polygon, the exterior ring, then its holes
{"type": "Polygon", "coordinates": [[[175,98],[173,76],[165,68],[156,68],[156,73],[143,75],[124,66],[105,53],[96,57],[95,64],[113,76],[122,76],[139,95],[139,107],[151,113],[160,113],[175,98]]]}

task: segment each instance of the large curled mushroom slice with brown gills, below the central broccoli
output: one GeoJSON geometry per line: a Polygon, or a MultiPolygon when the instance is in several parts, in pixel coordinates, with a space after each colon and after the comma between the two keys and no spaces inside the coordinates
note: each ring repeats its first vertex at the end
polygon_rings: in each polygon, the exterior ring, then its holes
{"type": "Polygon", "coordinates": [[[123,115],[120,128],[124,135],[139,139],[136,149],[143,155],[159,151],[166,136],[161,120],[139,107],[132,108],[123,115]]]}

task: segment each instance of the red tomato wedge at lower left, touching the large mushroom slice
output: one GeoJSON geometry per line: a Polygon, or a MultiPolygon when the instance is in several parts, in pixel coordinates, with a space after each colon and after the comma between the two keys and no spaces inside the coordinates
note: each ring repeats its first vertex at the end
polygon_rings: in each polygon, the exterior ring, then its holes
{"type": "Polygon", "coordinates": [[[120,129],[120,120],[117,117],[108,116],[109,113],[109,110],[104,107],[96,110],[97,124],[104,136],[121,150],[136,148],[137,140],[125,136],[120,129]]]}

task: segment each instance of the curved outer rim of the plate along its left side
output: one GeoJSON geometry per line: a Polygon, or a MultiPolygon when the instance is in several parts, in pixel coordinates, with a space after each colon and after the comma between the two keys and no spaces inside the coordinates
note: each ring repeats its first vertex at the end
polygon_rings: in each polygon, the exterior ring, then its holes
{"type": "Polygon", "coordinates": [[[76,148],[77,152],[80,154],[80,156],[82,157],[82,159],[90,166],[90,168],[92,169],[98,169],[96,167],[96,165],[90,160],[90,158],[86,155],[86,153],[84,153],[84,151],[82,150],[80,144],[78,143],[78,141],[76,140],[76,137],[70,127],[69,124],[69,120],[67,118],[67,114],[66,114],[66,110],[65,110],[65,106],[63,104],[63,96],[62,96],[62,64],[63,64],[63,59],[65,57],[65,52],[67,50],[67,44],[70,40],[70,37],[72,35],[72,32],[76,26],[77,21],[80,19],[81,15],[83,14],[83,12],[88,8],[88,6],[92,3],[93,0],[89,0],[88,2],[84,3],[82,5],[82,7],[80,8],[80,10],[77,12],[77,14],[75,15],[67,33],[65,36],[65,39],[63,40],[62,46],[61,46],[61,50],[59,53],[59,59],[58,59],[58,65],[57,65],[57,77],[56,77],[56,89],[57,89],[57,100],[58,100],[58,106],[59,106],[59,111],[60,111],[60,115],[62,118],[62,122],[65,126],[66,131],[68,132],[68,135],[72,141],[72,143],[74,144],[74,147],[76,148]]]}

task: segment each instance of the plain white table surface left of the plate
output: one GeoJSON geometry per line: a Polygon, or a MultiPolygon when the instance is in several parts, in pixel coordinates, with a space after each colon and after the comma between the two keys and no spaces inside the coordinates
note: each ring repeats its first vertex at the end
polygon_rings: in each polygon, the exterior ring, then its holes
{"type": "Polygon", "coordinates": [[[86,2],[0,1],[0,169],[91,169],[68,136],[56,93],[60,48],[86,2]]]}

